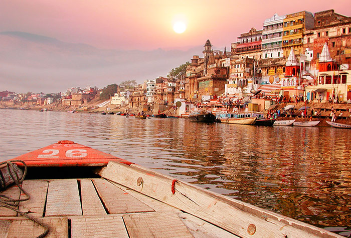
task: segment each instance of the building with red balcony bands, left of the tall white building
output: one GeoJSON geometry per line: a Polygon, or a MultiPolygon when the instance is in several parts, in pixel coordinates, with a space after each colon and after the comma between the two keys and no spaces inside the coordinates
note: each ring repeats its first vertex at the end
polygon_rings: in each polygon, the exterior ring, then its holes
{"type": "Polygon", "coordinates": [[[232,44],[232,55],[240,58],[260,59],[262,57],[262,30],[251,28],[247,33],[241,33],[236,44],[232,44]]]}

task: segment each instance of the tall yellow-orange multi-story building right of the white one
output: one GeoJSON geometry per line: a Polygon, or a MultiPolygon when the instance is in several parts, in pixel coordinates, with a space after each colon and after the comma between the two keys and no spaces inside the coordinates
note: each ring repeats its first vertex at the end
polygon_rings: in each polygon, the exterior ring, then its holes
{"type": "Polygon", "coordinates": [[[288,57],[291,47],[300,54],[303,51],[303,35],[306,29],[314,27],[314,17],[311,12],[300,11],[287,14],[283,23],[283,52],[288,57]]]}

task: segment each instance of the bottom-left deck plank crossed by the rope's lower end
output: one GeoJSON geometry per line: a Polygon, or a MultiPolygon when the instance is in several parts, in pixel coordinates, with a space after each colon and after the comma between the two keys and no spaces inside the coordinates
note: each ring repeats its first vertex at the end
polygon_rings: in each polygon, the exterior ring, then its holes
{"type": "MultiPolygon", "coordinates": [[[[49,233],[45,238],[68,238],[67,217],[39,218],[40,221],[49,226],[49,233]]],[[[45,231],[45,228],[29,219],[15,219],[9,230],[8,238],[37,237],[45,231]]]]}

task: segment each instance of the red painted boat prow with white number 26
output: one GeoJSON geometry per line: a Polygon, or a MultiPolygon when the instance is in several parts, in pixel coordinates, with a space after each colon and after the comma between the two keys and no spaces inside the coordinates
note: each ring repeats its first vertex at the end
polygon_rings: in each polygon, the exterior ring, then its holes
{"type": "Polygon", "coordinates": [[[44,148],[22,154],[14,159],[29,166],[105,166],[109,161],[132,164],[125,159],[101,152],[70,140],[60,140],[44,148]]]}

